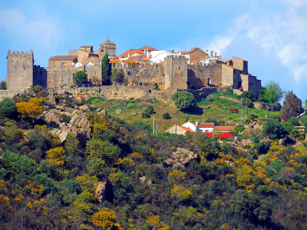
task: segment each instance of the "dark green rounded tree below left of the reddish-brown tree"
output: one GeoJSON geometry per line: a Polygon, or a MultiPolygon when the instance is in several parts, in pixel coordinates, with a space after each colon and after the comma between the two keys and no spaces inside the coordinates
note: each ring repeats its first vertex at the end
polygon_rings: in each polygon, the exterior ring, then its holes
{"type": "Polygon", "coordinates": [[[268,118],[262,127],[262,134],[270,136],[271,139],[283,138],[288,134],[284,125],[276,119],[268,118]]]}

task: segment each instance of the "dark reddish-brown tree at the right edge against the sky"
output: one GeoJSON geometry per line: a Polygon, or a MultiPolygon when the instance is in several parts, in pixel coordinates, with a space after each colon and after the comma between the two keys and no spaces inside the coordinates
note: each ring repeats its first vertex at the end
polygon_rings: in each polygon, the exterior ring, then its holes
{"type": "Polygon", "coordinates": [[[296,117],[303,112],[302,101],[297,98],[293,91],[286,94],[285,100],[282,104],[281,114],[285,121],[291,117],[296,117]]]}

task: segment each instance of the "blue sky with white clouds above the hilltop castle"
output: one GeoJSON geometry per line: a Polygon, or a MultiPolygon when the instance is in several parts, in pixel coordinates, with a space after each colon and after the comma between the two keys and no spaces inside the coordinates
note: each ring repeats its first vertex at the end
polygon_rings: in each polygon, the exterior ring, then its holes
{"type": "Polygon", "coordinates": [[[192,47],[247,60],[248,72],[307,98],[307,1],[0,0],[0,80],[7,51],[33,50],[36,65],[107,36],[116,54],[146,45],[192,47]]]}

